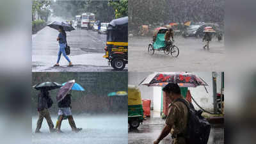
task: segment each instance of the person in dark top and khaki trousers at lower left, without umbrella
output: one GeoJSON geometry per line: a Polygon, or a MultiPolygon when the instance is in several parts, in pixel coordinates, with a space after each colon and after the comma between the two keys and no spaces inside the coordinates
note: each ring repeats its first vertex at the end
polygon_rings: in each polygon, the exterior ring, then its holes
{"type": "Polygon", "coordinates": [[[47,90],[41,90],[38,94],[38,104],[37,104],[37,111],[39,114],[39,118],[36,123],[36,133],[40,132],[40,128],[42,126],[42,122],[44,118],[47,120],[47,124],[49,126],[50,132],[54,132],[54,125],[52,124],[51,115],[48,111],[49,107],[47,104],[47,100],[51,99],[49,96],[49,92],[47,90]]]}

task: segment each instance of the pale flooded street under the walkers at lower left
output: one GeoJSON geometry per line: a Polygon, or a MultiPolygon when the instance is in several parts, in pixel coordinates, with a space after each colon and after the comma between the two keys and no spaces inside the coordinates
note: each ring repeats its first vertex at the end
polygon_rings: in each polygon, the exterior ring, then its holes
{"type": "MultiPolygon", "coordinates": [[[[63,120],[61,131],[63,133],[50,133],[46,120],[44,119],[42,133],[35,134],[36,120],[38,116],[32,117],[32,143],[35,144],[56,144],[56,143],[106,143],[125,144],[127,138],[127,115],[74,115],[77,127],[83,128],[80,132],[72,132],[68,120],[63,120]]],[[[52,122],[56,124],[56,117],[52,117],[52,122]]]]}

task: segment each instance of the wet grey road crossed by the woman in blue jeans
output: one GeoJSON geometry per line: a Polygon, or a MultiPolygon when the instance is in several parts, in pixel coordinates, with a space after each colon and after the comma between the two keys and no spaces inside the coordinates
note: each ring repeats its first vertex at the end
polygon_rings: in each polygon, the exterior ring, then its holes
{"type": "MultiPolygon", "coordinates": [[[[108,60],[102,58],[106,45],[106,35],[99,35],[96,31],[86,29],[67,32],[70,45],[68,58],[74,67],[67,67],[68,62],[63,56],[61,67],[52,67],[58,58],[59,51],[56,38],[58,31],[45,27],[32,35],[32,71],[33,72],[102,72],[112,71],[108,60]]],[[[124,69],[127,71],[127,67],[124,69]]]]}

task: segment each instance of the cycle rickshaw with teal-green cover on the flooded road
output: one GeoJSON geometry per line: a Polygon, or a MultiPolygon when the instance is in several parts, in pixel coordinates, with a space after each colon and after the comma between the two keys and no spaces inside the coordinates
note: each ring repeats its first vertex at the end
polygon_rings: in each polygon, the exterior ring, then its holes
{"type": "Polygon", "coordinates": [[[150,55],[154,54],[154,51],[164,51],[164,54],[170,54],[172,56],[179,56],[179,48],[176,45],[173,45],[171,42],[170,45],[166,47],[164,42],[164,35],[168,31],[168,28],[160,27],[154,30],[154,36],[151,44],[148,44],[148,53],[150,55]]]}

